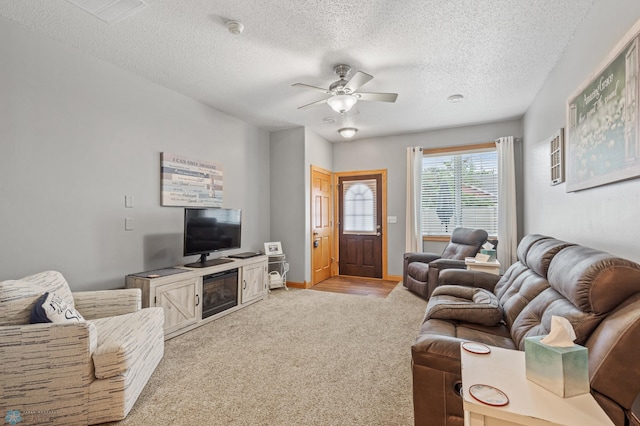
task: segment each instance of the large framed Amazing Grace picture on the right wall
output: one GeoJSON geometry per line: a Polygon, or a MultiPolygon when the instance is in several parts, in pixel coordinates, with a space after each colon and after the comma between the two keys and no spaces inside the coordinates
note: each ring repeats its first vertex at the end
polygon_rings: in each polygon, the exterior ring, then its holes
{"type": "Polygon", "coordinates": [[[640,176],[640,21],[567,100],[567,192],[640,176]]]}

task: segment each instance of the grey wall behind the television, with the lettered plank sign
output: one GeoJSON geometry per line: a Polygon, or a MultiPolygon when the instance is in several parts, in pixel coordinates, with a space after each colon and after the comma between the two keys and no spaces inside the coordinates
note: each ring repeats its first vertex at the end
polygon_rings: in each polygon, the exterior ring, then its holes
{"type": "Polygon", "coordinates": [[[221,162],[243,251],[269,237],[267,132],[4,19],[0,144],[0,280],[56,269],[74,290],[117,288],[195,260],[183,209],[160,206],[161,152],[221,162]]]}

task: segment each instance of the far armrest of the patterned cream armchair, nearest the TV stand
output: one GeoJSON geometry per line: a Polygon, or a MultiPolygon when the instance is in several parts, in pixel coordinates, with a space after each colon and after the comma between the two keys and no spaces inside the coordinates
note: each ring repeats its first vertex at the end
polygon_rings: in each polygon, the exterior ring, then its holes
{"type": "Polygon", "coordinates": [[[73,293],[76,309],[85,319],[113,317],[139,311],[142,293],[139,288],[79,291],[73,293]]]}

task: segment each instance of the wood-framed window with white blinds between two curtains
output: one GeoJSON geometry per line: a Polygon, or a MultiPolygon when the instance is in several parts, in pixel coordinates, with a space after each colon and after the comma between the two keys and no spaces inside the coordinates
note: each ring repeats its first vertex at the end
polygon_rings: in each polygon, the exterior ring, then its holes
{"type": "Polygon", "coordinates": [[[498,152],[493,143],[463,150],[424,150],[422,235],[451,235],[459,227],[498,234],[498,152]]]}

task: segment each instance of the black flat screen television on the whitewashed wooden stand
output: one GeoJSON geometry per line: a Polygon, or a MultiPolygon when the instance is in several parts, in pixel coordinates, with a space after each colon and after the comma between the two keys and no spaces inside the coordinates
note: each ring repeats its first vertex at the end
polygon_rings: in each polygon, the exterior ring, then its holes
{"type": "Polygon", "coordinates": [[[185,208],[184,255],[199,254],[200,260],[188,267],[204,268],[225,263],[225,259],[210,259],[210,253],[240,248],[242,211],[240,209],[185,208]]]}

